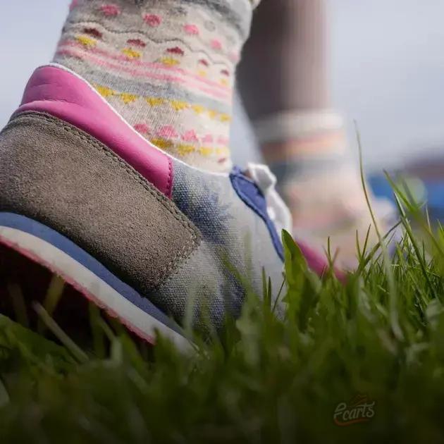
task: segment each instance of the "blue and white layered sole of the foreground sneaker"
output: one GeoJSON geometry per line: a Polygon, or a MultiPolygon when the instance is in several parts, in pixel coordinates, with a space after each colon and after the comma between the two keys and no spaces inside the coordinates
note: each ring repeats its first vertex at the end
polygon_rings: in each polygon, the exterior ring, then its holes
{"type": "Polygon", "coordinates": [[[0,244],[63,278],[81,295],[154,344],[156,333],[179,350],[192,347],[180,327],[65,236],[18,214],[0,212],[0,244]]]}

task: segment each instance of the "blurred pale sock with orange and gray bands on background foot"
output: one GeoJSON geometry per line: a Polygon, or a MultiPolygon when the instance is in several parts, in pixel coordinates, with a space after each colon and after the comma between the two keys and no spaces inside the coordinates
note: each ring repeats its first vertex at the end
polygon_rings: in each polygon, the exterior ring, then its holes
{"type": "MultiPolygon", "coordinates": [[[[317,245],[319,251],[327,248],[330,238],[331,252],[339,253],[337,265],[353,268],[356,232],[361,247],[370,226],[370,248],[378,238],[340,117],[328,111],[281,113],[258,121],[256,128],[290,207],[295,238],[317,245]],[[277,142],[282,138],[289,142],[277,142]]],[[[371,205],[385,234],[392,207],[372,197],[371,205]]]]}

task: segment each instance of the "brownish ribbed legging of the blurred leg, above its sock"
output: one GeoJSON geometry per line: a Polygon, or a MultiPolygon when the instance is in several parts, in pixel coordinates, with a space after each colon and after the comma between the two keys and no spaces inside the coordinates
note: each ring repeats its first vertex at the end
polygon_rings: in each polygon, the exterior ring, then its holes
{"type": "Polygon", "coordinates": [[[325,22],[323,0],[262,0],[239,69],[253,121],[330,106],[325,22]]]}

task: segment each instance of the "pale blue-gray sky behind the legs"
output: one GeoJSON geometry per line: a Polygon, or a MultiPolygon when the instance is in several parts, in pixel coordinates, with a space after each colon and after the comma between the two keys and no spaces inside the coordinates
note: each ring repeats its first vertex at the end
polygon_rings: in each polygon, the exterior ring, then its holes
{"type": "MultiPolygon", "coordinates": [[[[20,102],[32,70],[47,63],[68,0],[0,1],[0,125],[20,102]]],[[[444,1],[328,0],[333,106],[353,121],[370,170],[444,156],[444,1]]],[[[242,115],[238,111],[239,115],[242,115]]],[[[235,158],[255,157],[245,120],[235,125],[235,158]]]]}

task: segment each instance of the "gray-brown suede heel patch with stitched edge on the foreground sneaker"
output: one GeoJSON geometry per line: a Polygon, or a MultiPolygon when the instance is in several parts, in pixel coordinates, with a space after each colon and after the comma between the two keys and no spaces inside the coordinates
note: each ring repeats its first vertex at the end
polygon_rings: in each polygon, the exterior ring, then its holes
{"type": "Polygon", "coordinates": [[[147,294],[200,245],[177,206],[104,144],[43,113],[23,113],[0,134],[0,211],[73,240],[147,294]]]}

